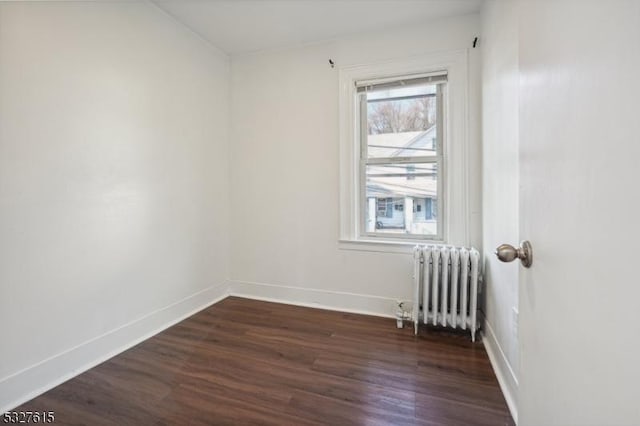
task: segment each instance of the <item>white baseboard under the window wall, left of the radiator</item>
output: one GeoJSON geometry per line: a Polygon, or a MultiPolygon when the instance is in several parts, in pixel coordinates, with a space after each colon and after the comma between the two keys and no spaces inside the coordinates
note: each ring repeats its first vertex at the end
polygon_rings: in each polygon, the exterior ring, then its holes
{"type": "Polygon", "coordinates": [[[386,297],[247,281],[230,281],[229,295],[387,318],[394,317],[396,306],[395,299],[386,297]]]}

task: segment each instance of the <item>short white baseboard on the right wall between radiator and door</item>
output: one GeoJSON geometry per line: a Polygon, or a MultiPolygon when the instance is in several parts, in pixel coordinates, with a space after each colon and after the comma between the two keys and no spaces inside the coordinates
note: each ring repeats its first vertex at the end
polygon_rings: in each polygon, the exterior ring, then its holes
{"type": "Polygon", "coordinates": [[[487,355],[489,355],[489,361],[491,362],[493,371],[496,374],[498,383],[500,384],[500,389],[502,390],[504,399],[507,401],[511,417],[513,417],[513,421],[518,424],[518,379],[516,378],[502,347],[500,347],[491,325],[486,320],[484,322],[484,329],[485,330],[482,333],[484,348],[487,350],[487,355]]]}

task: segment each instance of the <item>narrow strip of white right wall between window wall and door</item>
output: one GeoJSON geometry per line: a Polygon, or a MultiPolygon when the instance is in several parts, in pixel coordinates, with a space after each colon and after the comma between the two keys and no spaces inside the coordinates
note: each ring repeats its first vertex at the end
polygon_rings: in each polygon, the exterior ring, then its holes
{"type": "Polygon", "coordinates": [[[493,251],[517,245],[518,14],[516,2],[487,1],[482,9],[482,220],[486,292],[485,346],[515,417],[519,262],[504,264],[493,251]]]}

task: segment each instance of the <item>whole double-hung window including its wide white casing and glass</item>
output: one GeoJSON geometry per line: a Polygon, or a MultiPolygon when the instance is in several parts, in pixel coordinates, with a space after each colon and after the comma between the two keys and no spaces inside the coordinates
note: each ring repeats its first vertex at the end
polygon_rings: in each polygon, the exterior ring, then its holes
{"type": "Polygon", "coordinates": [[[468,245],[467,74],[465,50],[339,69],[341,247],[468,245]]]}

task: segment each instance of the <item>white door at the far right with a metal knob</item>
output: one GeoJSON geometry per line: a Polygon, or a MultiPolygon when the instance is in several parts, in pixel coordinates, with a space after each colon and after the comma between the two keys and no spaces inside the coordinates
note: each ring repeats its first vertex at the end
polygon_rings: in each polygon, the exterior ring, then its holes
{"type": "Polygon", "coordinates": [[[519,424],[640,425],[640,1],[519,17],[519,424]]]}

